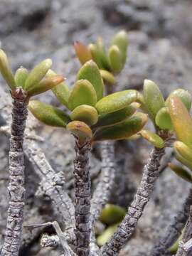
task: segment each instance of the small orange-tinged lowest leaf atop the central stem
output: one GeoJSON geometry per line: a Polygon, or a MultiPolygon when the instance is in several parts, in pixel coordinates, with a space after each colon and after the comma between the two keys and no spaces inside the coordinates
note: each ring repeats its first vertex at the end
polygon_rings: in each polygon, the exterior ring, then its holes
{"type": "Polygon", "coordinates": [[[85,122],[73,121],[67,126],[67,129],[78,137],[79,144],[84,144],[88,140],[92,139],[92,130],[85,122]]]}

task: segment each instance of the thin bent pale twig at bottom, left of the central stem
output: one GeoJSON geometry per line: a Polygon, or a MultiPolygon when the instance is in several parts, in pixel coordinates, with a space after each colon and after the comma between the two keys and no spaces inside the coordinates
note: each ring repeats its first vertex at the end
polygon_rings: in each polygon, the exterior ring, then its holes
{"type": "Polygon", "coordinates": [[[26,225],[25,228],[32,230],[34,228],[43,228],[48,226],[53,226],[53,228],[55,229],[55,232],[57,233],[58,238],[60,240],[60,245],[63,247],[64,255],[75,256],[75,252],[73,252],[73,250],[70,249],[68,242],[65,240],[65,236],[63,235],[63,232],[60,229],[60,226],[58,225],[57,221],[43,223],[43,224],[26,225]]]}

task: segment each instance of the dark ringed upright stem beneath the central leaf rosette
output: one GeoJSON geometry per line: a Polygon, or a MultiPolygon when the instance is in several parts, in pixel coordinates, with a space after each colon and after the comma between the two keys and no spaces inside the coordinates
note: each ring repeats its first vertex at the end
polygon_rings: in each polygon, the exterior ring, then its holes
{"type": "Polygon", "coordinates": [[[75,142],[75,235],[76,253],[88,256],[90,253],[90,142],[83,146],[75,142]]]}

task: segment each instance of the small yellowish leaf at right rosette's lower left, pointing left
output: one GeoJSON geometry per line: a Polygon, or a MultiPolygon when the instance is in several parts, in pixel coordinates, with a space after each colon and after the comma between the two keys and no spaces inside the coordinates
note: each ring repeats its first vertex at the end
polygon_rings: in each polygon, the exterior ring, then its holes
{"type": "Polygon", "coordinates": [[[153,132],[150,132],[148,130],[142,130],[139,132],[139,134],[142,135],[142,137],[146,140],[148,140],[151,144],[153,144],[155,147],[161,149],[165,146],[164,140],[161,139],[157,134],[154,134],[153,132]]]}

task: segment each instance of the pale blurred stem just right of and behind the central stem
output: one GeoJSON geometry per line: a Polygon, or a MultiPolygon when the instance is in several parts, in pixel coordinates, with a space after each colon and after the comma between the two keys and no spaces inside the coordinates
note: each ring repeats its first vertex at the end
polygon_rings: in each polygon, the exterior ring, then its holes
{"type": "Polygon", "coordinates": [[[91,202],[91,226],[95,220],[99,218],[102,208],[111,195],[114,184],[115,164],[114,164],[114,142],[102,142],[102,171],[100,174],[100,182],[95,189],[91,202]]]}

